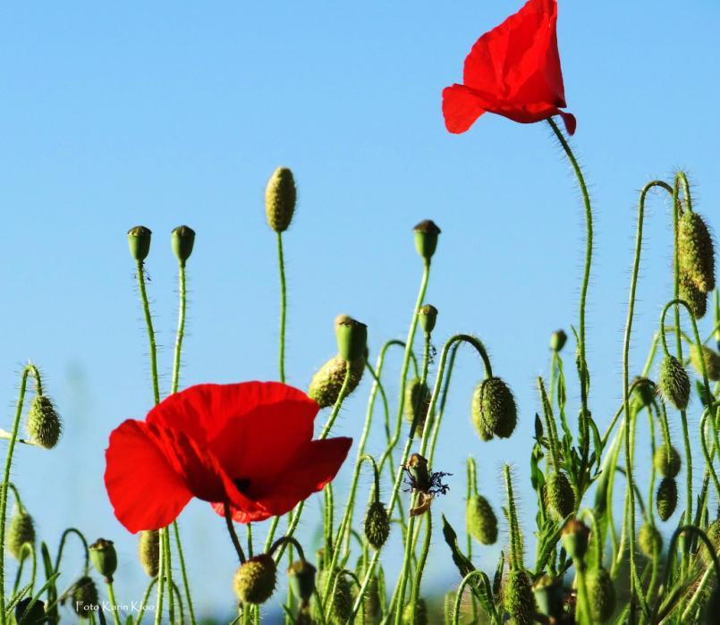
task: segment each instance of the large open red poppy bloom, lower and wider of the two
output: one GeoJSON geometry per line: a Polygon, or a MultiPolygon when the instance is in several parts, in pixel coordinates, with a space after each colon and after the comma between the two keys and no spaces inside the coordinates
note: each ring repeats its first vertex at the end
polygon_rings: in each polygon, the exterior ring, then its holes
{"type": "Polygon", "coordinates": [[[114,429],[105,485],[131,532],[164,528],[192,497],[249,523],[332,481],[352,439],[312,440],[318,404],[275,382],[199,384],[114,429]]]}

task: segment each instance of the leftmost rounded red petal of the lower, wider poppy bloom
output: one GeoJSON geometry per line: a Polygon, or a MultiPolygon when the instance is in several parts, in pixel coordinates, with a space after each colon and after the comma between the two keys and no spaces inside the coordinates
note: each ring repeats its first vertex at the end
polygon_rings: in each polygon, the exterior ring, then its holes
{"type": "Polygon", "coordinates": [[[105,486],[115,517],[133,534],[165,528],[191,500],[145,423],[129,419],[115,428],[105,457],[105,486]]]}

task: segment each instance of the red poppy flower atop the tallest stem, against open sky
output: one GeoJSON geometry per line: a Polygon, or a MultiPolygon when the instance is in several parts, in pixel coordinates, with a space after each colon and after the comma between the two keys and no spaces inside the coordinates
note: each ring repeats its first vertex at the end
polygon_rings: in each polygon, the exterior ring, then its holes
{"type": "Polygon", "coordinates": [[[485,33],[465,59],[463,84],[443,90],[448,131],[467,131],[483,113],[531,123],[562,115],[575,131],[565,104],[557,52],[555,0],[529,0],[518,13],[485,33]]]}

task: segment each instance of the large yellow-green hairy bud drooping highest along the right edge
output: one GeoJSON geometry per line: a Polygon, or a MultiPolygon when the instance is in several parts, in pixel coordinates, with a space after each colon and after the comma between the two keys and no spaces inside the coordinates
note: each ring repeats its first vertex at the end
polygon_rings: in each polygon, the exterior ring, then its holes
{"type": "Polygon", "coordinates": [[[715,289],[715,249],[703,218],[685,211],[678,223],[678,257],[682,272],[708,293],[715,289]]]}

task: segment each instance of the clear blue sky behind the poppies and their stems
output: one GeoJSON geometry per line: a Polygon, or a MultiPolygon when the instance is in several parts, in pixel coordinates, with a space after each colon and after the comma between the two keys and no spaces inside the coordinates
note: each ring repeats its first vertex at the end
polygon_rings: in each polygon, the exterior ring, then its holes
{"type": "MultiPolygon", "coordinates": [[[[545,125],[487,115],[453,136],[440,112],[441,90],[461,79],[472,43],[520,5],[0,9],[0,399],[7,427],[17,371],[31,358],[65,419],[59,448],[20,449],[13,478],[50,544],[67,525],[117,542],[121,601],[138,598],[144,581],[135,539],[106,500],[103,451],[110,430],[142,418],[151,401],[125,232],[136,224],[154,232],[149,291],[165,346],[165,388],[176,305],[169,234],[178,224],[198,232],[182,383],[274,378],[275,240],[263,190],[277,165],[292,167],[300,194],[285,237],[289,381],[304,388],[333,354],[339,312],[368,324],[375,353],[404,335],[420,274],[411,227],[433,218],[443,229],[428,291],[440,309],[437,341],[461,330],[478,334],[521,409],[512,439],[480,443],[469,422],[479,364],[460,359],[437,461],[456,475],[436,510],[462,525],[462,468],[473,453],[499,513],[499,467],[510,460],[529,528],[534,379],[547,371],[551,331],[577,319],[580,203],[545,125]]],[[[589,365],[601,425],[620,396],[637,191],[687,168],[699,212],[716,212],[718,25],[720,4],[712,0],[682,8],[669,0],[560,2],[568,110],[578,118],[573,145],[597,215],[589,365]]],[[[668,224],[656,198],[634,369],[670,298],[668,224]]],[[[572,345],[566,351],[572,363],[572,345]]],[[[388,388],[394,396],[396,376],[388,388]]],[[[366,381],[343,410],[339,432],[359,434],[367,391],[366,381]]],[[[232,608],[234,562],[222,519],[194,503],[182,528],[200,612],[232,608]]],[[[314,529],[309,516],[308,544],[314,529]]],[[[391,562],[397,549],[388,552],[391,562]]],[[[428,585],[449,586],[454,575],[439,535],[434,550],[428,585]]],[[[476,560],[489,570],[495,556],[487,550],[476,560]]],[[[70,570],[77,567],[76,559],[70,570]]]]}

